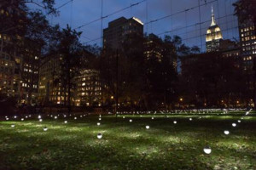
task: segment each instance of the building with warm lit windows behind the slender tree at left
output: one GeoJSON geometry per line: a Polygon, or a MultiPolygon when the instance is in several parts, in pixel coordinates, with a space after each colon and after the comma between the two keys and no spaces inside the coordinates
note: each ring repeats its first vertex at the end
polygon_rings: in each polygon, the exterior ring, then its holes
{"type": "MultiPolygon", "coordinates": [[[[42,105],[67,105],[67,89],[61,82],[62,57],[55,56],[44,59],[39,70],[39,101],[42,105]]],[[[101,105],[102,88],[99,81],[99,71],[79,69],[73,77],[71,89],[71,105],[92,106],[101,105]]]]}

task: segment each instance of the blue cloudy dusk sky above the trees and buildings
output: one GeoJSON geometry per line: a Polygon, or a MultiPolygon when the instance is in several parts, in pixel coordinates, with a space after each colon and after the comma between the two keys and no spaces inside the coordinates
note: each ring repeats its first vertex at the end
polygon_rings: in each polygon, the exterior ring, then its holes
{"type": "MultiPolygon", "coordinates": [[[[69,0],[55,0],[55,7],[60,7],[61,4],[67,3],[69,0]]],[[[129,7],[131,4],[139,3],[143,0],[103,0],[103,16],[112,14],[119,9],[129,7]]],[[[164,20],[151,22],[144,26],[144,32],[154,33],[163,37],[166,34],[177,35],[183,38],[189,46],[197,45],[205,50],[205,34],[207,27],[210,26],[211,8],[214,8],[214,14],[218,26],[223,31],[224,39],[239,39],[237,29],[237,19],[233,15],[234,8],[232,3],[236,0],[200,0],[201,4],[201,32],[200,32],[200,17],[198,0],[148,0],[148,5],[144,1],[138,5],[128,8],[118,14],[113,14],[103,20],[103,28],[108,27],[108,22],[115,20],[121,16],[131,18],[132,16],[142,20],[143,23],[157,20],[166,15],[164,20]],[[207,4],[205,4],[207,3],[207,4]],[[147,8],[148,6],[148,17],[147,8]],[[186,10],[189,9],[189,10],[186,10]],[[186,12],[185,12],[186,11],[186,12]],[[178,12],[181,12],[177,14],[178,12]],[[219,19],[218,19],[219,18],[219,19]],[[201,35],[201,36],[200,36],[201,35]],[[201,38],[202,37],[202,38],[201,38]],[[202,39],[202,44],[201,44],[202,39]]],[[[68,3],[63,8],[60,8],[58,17],[49,16],[51,24],[60,24],[61,27],[71,25],[77,28],[92,20],[101,18],[102,0],[73,0],[73,3],[68,3]]],[[[83,31],[81,37],[82,42],[97,43],[101,45],[101,21],[96,21],[88,26],[84,26],[79,31],[83,31]],[[93,41],[97,39],[96,41],[93,41]]]]}

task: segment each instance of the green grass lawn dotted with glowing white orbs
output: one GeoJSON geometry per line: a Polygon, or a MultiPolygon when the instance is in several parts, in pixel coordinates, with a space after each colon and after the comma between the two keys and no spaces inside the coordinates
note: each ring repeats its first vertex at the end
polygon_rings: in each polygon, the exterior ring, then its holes
{"type": "Polygon", "coordinates": [[[0,169],[256,169],[256,116],[151,117],[1,121],[0,169]],[[210,155],[203,151],[206,145],[210,155]]]}

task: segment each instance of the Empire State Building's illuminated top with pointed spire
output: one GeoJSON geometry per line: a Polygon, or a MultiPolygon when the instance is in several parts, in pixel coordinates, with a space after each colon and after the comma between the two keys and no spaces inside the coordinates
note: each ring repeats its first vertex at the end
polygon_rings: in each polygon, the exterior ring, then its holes
{"type": "Polygon", "coordinates": [[[219,43],[223,39],[219,26],[216,24],[212,8],[212,22],[207,30],[207,52],[218,51],[219,43]]]}

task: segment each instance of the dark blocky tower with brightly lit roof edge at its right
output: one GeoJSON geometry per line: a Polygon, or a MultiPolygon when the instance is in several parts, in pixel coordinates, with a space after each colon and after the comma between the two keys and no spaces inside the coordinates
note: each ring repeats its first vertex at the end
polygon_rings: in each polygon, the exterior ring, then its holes
{"type": "Polygon", "coordinates": [[[103,47],[117,49],[125,41],[127,35],[143,36],[143,22],[135,17],[121,17],[108,23],[103,30],[103,47]]]}

